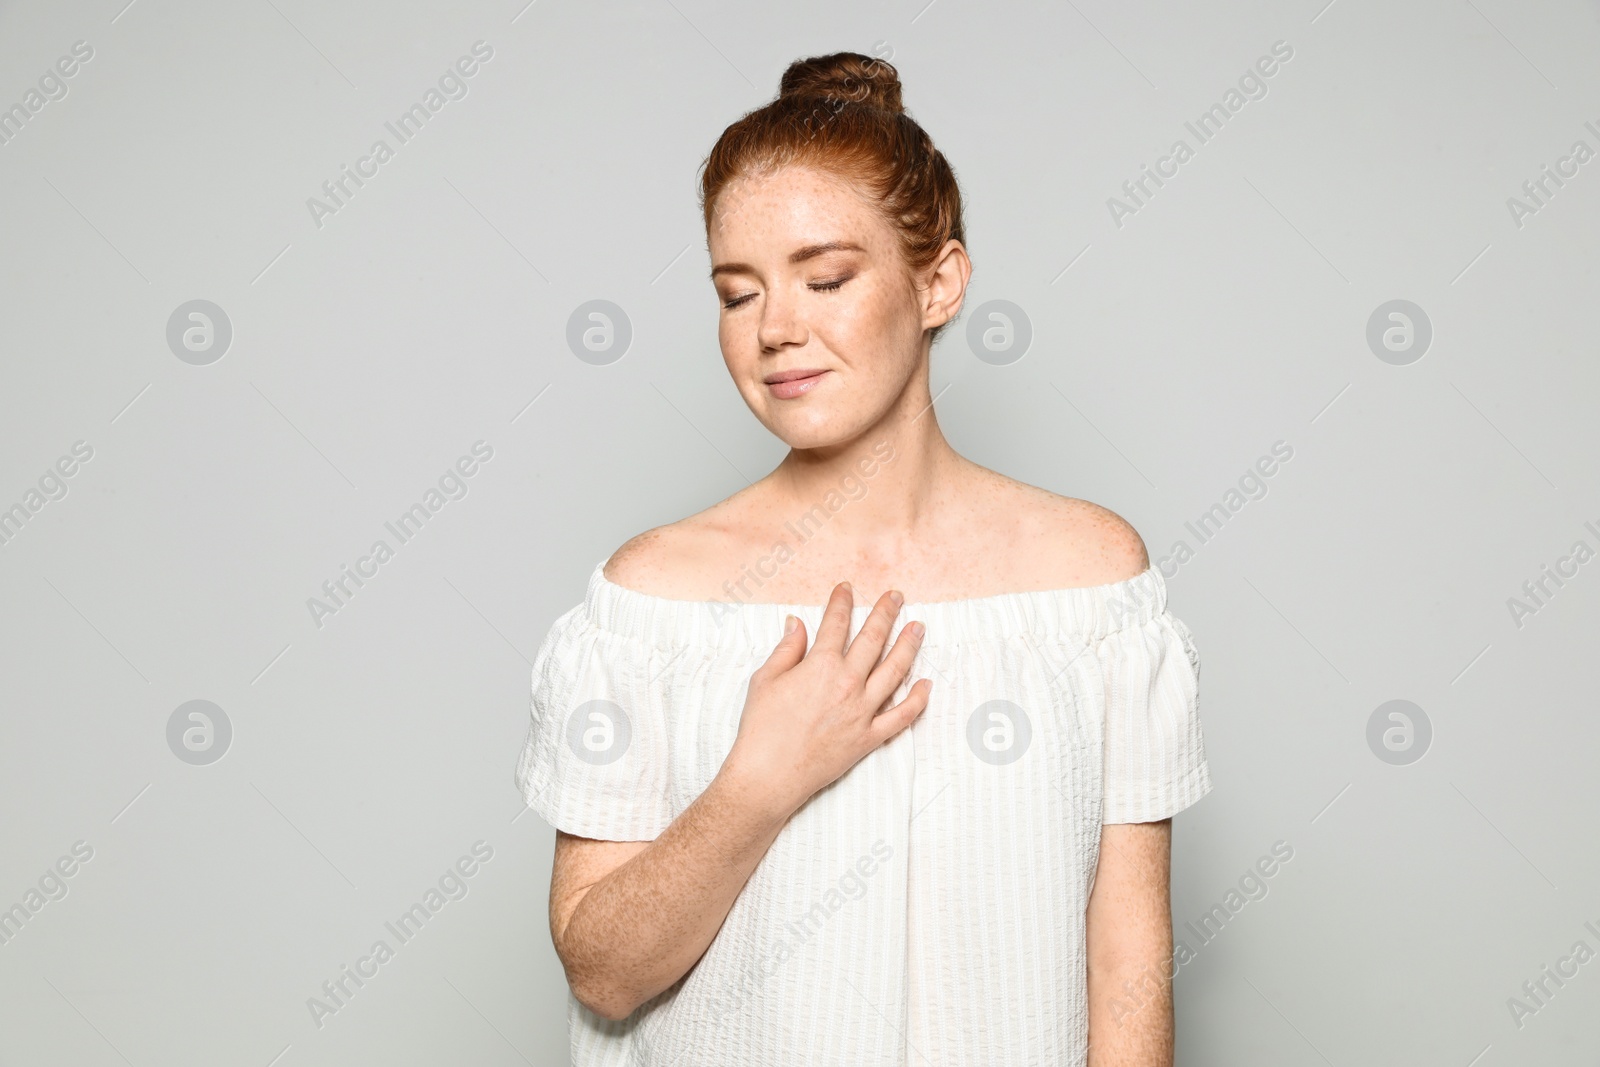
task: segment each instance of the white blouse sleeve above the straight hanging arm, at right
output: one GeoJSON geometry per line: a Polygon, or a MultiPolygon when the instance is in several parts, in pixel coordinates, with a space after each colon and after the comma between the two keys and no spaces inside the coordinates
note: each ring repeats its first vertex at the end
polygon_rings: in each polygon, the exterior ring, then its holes
{"type": "Polygon", "coordinates": [[[1211,792],[1200,731],[1200,653],[1171,613],[1099,643],[1106,680],[1101,822],[1157,822],[1211,792]]]}

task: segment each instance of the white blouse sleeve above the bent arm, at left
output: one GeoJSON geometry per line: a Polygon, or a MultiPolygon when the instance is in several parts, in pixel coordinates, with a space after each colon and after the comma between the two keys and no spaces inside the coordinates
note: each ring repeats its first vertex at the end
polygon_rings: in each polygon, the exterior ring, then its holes
{"type": "Polygon", "coordinates": [[[558,617],[533,661],[517,787],[558,830],[648,841],[672,822],[662,696],[653,653],[600,630],[582,605],[558,617]]]}

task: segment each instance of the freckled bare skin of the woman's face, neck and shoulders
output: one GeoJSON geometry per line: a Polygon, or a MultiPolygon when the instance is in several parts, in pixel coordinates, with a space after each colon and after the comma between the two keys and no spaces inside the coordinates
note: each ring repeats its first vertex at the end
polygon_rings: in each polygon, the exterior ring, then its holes
{"type": "Polygon", "coordinates": [[[750,589],[747,568],[784,541],[797,558],[758,576],[760,595],[733,598],[824,603],[850,581],[861,601],[894,587],[918,603],[1096,585],[1149,565],[1138,533],[1114,512],[973,464],[944,440],[930,406],[926,331],[962,307],[971,264],[960,242],[914,280],[894,230],[851,184],[789,166],[725,194],[707,245],[714,267],[746,267],[714,280],[718,306],[738,302],[718,312],[723,363],[755,418],[792,451],[726,501],[624,544],[606,577],[677,600],[728,600],[725,582],[750,589]],[[864,251],[789,262],[794,250],[824,242],[864,251]],[[762,382],[800,368],[830,373],[794,400],[762,382]],[[883,443],[894,456],[886,466],[872,451],[883,443]],[[784,523],[798,525],[842,491],[862,461],[880,466],[856,477],[866,496],[800,545],[784,523]]]}

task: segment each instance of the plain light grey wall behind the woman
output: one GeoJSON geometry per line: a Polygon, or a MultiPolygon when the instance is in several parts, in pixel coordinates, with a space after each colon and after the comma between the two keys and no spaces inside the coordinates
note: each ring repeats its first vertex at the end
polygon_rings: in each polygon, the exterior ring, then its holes
{"type": "Polygon", "coordinates": [[[0,945],[5,1064],[562,1064],[552,830],[512,768],[528,669],[590,568],[782,454],[722,366],[696,166],[784,66],[890,58],[957,168],[1027,354],[934,352],[974,461],[1125,515],[1195,632],[1214,792],[1173,913],[1274,875],[1176,982],[1179,1064],[1594,1064],[1600,537],[1592,413],[1600,5],[0,6],[0,907],[93,859],[0,945]],[[306,206],[474,42],[493,58],[318,227],[306,206]],[[1107,198],[1274,42],[1293,59],[1118,227],[1107,198]],[[213,301],[222,358],[166,342],[213,301]],[[597,366],[586,301],[632,326],[597,366]],[[1429,350],[1379,360],[1408,299],[1429,350]],[[307,600],[488,442],[318,627],[307,600]],[[1267,493],[1194,522],[1270,451],[1267,493]],[[194,765],[168,718],[232,742],[194,765]],[[1368,747],[1424,709],[1424,758],[1368,747]],[[307,998],[474,841],[493,859],[320,1029],[307,998]],[[1550,987],[1554,989],[1554,985],[1550,987]]]}

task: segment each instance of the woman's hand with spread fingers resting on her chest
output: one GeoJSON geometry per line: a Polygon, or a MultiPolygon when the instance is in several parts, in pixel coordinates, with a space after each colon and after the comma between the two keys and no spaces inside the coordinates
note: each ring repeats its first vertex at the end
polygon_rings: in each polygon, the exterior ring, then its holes
{"type": "Polygon", "coordinates": [[[794,617],[794,629],[750,675],[739,733],[723,766],[733,765],[763,784],[786,814],[928,707],[933,681],[918,678],[904,701],[883,709],[910,672],[922,646],[922,624],[901,627],[894,648],[878,662],[901,609],[899,593],[890,590],[878,598],[846,648],[853,601],[846,582],[835,585],[811,651],[805,622],[794,617]]]}

